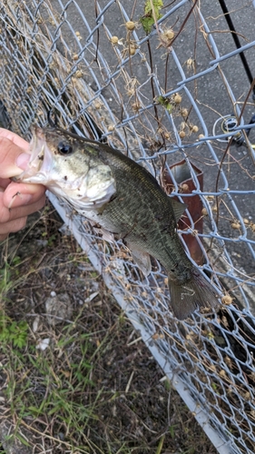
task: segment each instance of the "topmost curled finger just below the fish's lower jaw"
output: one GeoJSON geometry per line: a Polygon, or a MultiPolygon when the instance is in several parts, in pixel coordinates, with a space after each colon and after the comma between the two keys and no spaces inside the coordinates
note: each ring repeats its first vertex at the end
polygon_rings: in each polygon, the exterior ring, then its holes
{"type": "Polygon", "coordinates": [[[45,187],[42,184],[10,183],[5,189],[3,202],[6,208],[20,207],[37,202],[43,197],[45,187]]]}

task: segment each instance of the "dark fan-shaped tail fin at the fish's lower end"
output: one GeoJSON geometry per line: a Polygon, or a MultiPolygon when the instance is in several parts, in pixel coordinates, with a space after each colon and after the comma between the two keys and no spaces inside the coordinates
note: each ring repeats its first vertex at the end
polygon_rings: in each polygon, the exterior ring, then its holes
{"type": "Polygon", "coordinates": [[[180,320],[186,319],[198,308],[216,308],[219,305],[217,292],[195,267],[191,268],[191,279],[181,284],[172,280],[169,273],[168,284],[172,311],[180,320]]]}

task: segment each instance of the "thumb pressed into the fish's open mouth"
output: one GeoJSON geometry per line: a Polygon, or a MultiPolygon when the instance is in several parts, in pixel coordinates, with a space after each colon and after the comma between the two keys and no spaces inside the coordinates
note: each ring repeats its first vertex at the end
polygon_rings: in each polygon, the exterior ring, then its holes
{"type": "MultiPolygon", "coordinates": [[[[25,141],[24,141],[25,142],[25,141]]],[[[28,143],[25,150],[27,150],[28,143]]],[[[11,178],[20,175],[21,169],[26,168],[30,154],[14,142],[0,136],[0,178],[11,178]]]]}

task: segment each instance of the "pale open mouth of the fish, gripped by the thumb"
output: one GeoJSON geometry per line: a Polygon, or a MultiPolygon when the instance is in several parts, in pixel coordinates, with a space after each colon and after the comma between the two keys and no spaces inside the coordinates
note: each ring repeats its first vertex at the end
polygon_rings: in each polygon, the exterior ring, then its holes
{"type": "Polygon", "coordinates": [[[53,156],[47,147],[44,130],[39,126],[31,129],[33,135],[29,148],[31,153],[29,163],[25,171],[12,180],[17,183],[45,184],[52,170],[53,156]]]}

